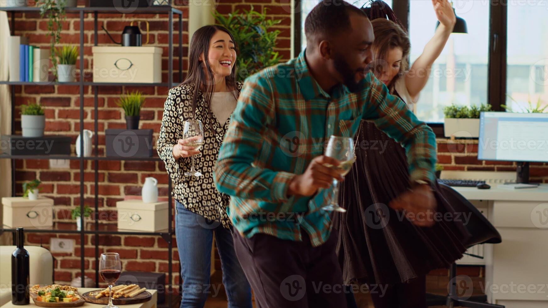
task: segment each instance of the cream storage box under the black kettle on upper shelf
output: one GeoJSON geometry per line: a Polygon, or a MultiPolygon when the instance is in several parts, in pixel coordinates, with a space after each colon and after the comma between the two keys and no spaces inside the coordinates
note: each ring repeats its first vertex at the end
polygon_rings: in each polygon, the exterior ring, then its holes
{"type": "Polygon", "coordinates": [[[162,82],[162,48],[93,46],[93,82],[162,82]]]}

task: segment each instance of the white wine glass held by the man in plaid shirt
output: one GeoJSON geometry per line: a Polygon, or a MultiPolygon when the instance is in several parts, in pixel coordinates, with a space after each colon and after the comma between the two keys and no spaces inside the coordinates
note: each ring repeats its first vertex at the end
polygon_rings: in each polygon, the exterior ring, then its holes
{"type": "MultiPolygon", "coordinates": [[[[335,158],[339,161],[339,166],[333,166],[332,164],[324,164],[328,168],[333,168],[340,175],[345,176],[350,172],[352,163],[354,162],[354,144],[352,138],[331,136],[329,138],[326,152],[327,157],[335,158]]],[[[346,212],[346,209],[339,206],[339,181],[333,179],[333,195],[327,206],[324,206],[324,210],[335,210],[337,212],[346,212]]]]}

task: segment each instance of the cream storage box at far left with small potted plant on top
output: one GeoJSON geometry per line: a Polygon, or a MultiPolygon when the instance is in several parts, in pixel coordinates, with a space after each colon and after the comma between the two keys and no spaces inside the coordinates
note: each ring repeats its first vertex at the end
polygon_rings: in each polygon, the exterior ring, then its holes
{"type": "Polygon", "coordinates": [[[10,228],[46,229],[53,226],[53,199],[38,197],[3,197],[3,224],[10,228]]]}

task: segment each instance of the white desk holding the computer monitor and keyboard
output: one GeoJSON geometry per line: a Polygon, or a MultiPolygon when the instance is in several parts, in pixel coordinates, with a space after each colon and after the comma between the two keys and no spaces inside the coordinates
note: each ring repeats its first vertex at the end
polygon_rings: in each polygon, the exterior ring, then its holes
{"type": "Polygon", "coordinates": [[[486,244],[483,291],[506,308],[548,307],[548,184],[532,189],[453,187],[478,208],[503,241],[486,244]]]}

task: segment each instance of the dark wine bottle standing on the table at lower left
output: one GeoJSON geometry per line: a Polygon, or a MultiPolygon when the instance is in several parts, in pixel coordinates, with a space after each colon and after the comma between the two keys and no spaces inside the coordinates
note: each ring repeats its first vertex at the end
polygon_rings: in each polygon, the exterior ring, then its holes
{"type": "Polygon", "coordinates": [[[23,228],[16,229],[17,248],[12,253],[12,304],[28,305],[28,276],[30,267],[28,264],[28,252],[23,248],[25,237],[23,228]]]}

